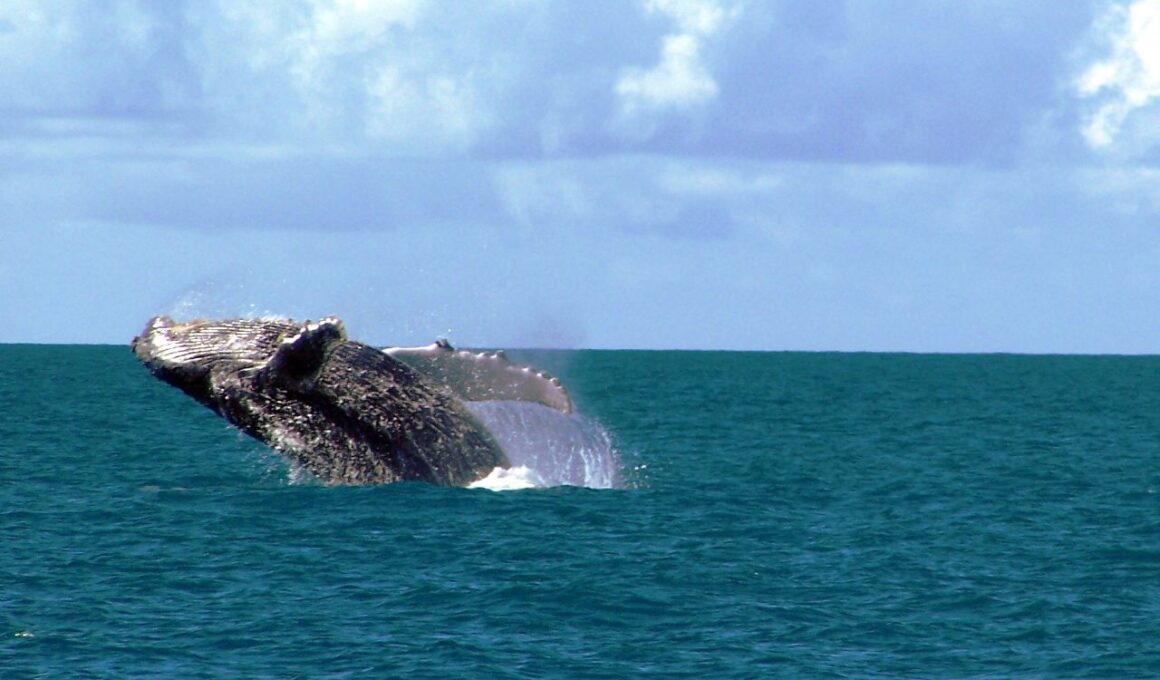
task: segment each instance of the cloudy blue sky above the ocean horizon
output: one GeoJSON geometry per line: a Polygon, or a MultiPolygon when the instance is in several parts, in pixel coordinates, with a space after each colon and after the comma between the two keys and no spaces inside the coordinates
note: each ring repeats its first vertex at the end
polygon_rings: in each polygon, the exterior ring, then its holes
{"type": "Polygon", "coordinates": [[[3,0],[0,342],[1160,353],[1160,0],[3,0]]]}

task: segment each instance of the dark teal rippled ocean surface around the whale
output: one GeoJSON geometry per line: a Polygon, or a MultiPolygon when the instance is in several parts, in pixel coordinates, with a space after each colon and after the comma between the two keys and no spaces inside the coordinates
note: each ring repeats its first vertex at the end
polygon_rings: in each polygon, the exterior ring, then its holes
{"type": "Polygon", "coordinates": [[[0,346],[0,678],[1160,677],[1160,357],[522,357],[534,487],[327,487],[0,346]]]}

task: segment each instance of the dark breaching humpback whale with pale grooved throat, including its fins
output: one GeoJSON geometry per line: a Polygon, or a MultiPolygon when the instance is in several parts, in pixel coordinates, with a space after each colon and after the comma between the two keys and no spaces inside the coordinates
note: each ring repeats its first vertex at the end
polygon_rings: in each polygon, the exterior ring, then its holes
{"type": "Polygon", "coordinates": [[[464,486],[508,466],[464,402],[530,400],[568,413],[559,381],[502,353],[378,349],[342,321],[177,323],[154,317],[132,349],[158,378],[326,484],[464,486]]]}

